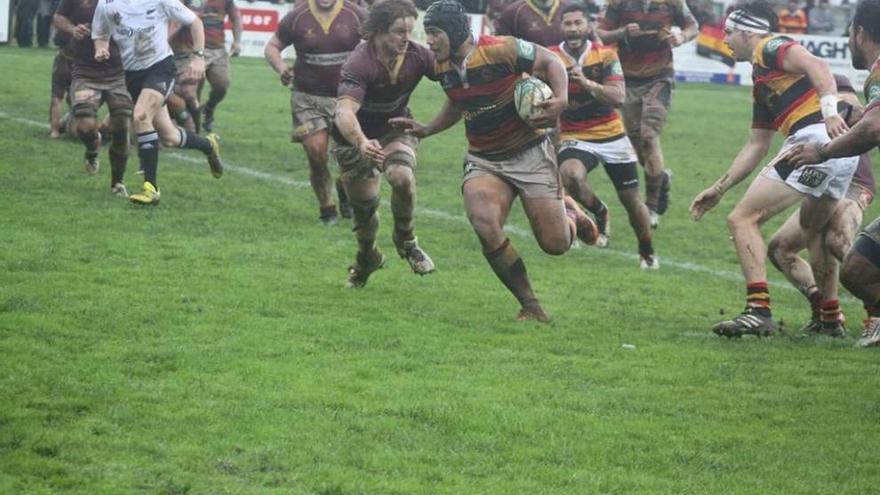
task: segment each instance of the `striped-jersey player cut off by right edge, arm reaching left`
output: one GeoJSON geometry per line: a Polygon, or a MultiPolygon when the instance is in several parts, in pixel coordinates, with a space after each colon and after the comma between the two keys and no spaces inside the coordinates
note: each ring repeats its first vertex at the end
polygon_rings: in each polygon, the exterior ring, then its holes
{"type": "MultiPolygon", "coordinates": [[[[786,157],[793,166],[859,155],[880,146],[880,0],[859,0],[856,4],[849,46],[853,67],[871,71],[865,80],[865,112],[843,136],[828,143],[806,143],[793,148],[786,157]]],[[[873,319],[856,345],[880,345],[880,218],[856,238],[844,259],[840,281],[861,299],[873,319]]]]}

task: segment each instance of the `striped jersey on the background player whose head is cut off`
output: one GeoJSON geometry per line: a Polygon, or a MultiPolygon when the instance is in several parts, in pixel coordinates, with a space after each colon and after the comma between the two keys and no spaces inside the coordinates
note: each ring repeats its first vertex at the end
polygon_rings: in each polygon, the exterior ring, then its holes
{"type": "Polygon", "coordinates": [[[617,42],[627,83],[672,77],[672,47],[665,38],[672,26],[686,28],[697,23],[685,0],[608,0],[599,27],[612,31],[633,22],[657,33],[617,42]]]}

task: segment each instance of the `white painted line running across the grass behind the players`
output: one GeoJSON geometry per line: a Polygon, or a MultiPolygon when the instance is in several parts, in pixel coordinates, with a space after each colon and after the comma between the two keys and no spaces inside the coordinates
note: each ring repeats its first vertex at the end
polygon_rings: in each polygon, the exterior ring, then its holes
{"type": "MultiPolygon", "coordinates": [[[[34,126],[34,127],[41,127],[44,129],[49,128],[49,124],[47,124],[45,122],[38,122],[36,120],[15,117],[15,116],[9,115],[8,113],[2,112],[2,111],[0,111],[0,118],[6,119],[6,120],[11,120],[13,122],[18,122],[21,124],[27,124],[27,125],[34,126]]],[[[171,158],[174,158],[175,160],[178,160],[181,162],[194,163],[194,164],[198,164],[198,165],[205,164],[204,158],[194,158],[191,156],[183,155],[178,152],[169,152],[167,154],[171,158]]],[[[223,162],[223,165],[226,170],[240,173],[242,175],[247,175],[247,176],[253,177],[255,179],[265,180],[265,181],[269,181],[269,182],[277,182],[277,183],[288,185],[291,187],[311,188],[311,185],[308,182],[290,179],[288,177],[284,177],[284,176],[278,175],[278,174],[273,174],[271,172],[261,172],[259,170],[254,170],[252,168],[245,167],[242,165],[230,165],[228,162],[223,162]]],[[[455,215],[452,213],[447,213],[442,210],[434,210],[431,208],[417,207],[416,212],[420,215],[433,217],[433,218],[439,218],[441,220],[458,222],[458,223],[462,223],[465,225],[469,224],[467,217],[465,217],[464,215],[455,215]]],[[[508,224],[504,227],[504,230],[507,232],[510,232],[511,234],[517,235],[519,237],[528,237],[528,238],[532,237],[531,229],[524,229],[522,227],[508,224]]],[[[633,261],[635,261],[639,258],[639,256],[635,253],[631,253],[628,251],[618,251],[616,249],[609,249],[609,248],[604,248],[604,249],[597,248],[597,249],[593,249],[593,252],[595,252],[596,254],[614,255],[614,256],[617,256],[620,258],[626,258],[626,259],[630,259],[633,261]]],[[[712,268],[709,268],[709,267],[706,267],[706,266],[703,266],[703,265],[700,265],[697,263],[676,261],[671,258],[667,258],[667,257],[663,256],[662,254],[658,255],[658,257],[660,259],[660,266],[661,267],[671,266],[673,268],[678,268],[680,270],[685,270],[685,271],[689,271],[689,272],[697,272],[697,273],[705,273],[707,275],[712,275],[713,277],[723,278],[723,279],[731,280],[734,282],[742,282],[743,281],[743,277],[740,272],[731,272],[731,271],[727,271],[727,270],[715,270],[715,269],[712,269],[712,268]]],[[[635,263],[633,264],[633,269],[636,269],[635,263]]],[[[771,285],[773,285],[774,288],[780,288],[780,289],[784,289],[784,290],[788,290],[788,291],[795,291],[795,292],[798,291],[796,288],[792,287],[791,284],[789,284],[787,281],[772,280],[772,279],[768,280],[768,281],[771,285]]],[[[845,295],[845,294],[841,294],[841,296],[842,296],[841,299],[854,300],[853,298],[848,297],[848,295],[845,295]]]]}

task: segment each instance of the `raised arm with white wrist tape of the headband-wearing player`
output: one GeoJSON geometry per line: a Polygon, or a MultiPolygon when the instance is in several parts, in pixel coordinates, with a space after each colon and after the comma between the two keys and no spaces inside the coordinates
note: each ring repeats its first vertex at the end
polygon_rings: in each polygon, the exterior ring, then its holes
{"type": "Polygon", "coordinates": [[[825,127],[832,138],[843,135],[848,129],[843,117],[837,114],[837,84],[828,63],[808,52],[799,44],[792,44],[782,59],[782,69],[794,74],[805,74],[819,94],[819,105],[825,127]]]}

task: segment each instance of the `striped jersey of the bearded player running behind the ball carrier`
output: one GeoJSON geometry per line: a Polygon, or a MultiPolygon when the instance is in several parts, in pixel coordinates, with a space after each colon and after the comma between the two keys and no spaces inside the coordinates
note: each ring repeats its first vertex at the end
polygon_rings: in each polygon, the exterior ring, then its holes
{"type": "MultiPolygon", "coordinates": [[[[623,81],[623,69],[613,49],[587,41],[587,47],[578,60],[567,51],[565,43],[551,47],[571,73],[575,64],[581,66],[584,76],[599,84],[623,81]]],[[[611,105],[599,102],[593,93],[569,80],[568,107],[560,119],[561,139],[605,142],[624,136],[623,121],[611,105]]]]}

